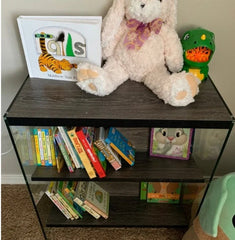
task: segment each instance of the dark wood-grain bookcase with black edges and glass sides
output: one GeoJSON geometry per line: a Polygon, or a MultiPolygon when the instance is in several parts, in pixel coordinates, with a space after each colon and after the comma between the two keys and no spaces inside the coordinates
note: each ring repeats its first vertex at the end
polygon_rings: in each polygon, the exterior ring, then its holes
{"type": "MultiPolygon", "coordinates": [[[[48,227],[188,226],[187,206],[140,201],[139,184],[142,181],[206,182],[208,189],[234,123],[231,112],[210,78],[200,85],[195,103],[176,108],[164,104],[143,84],[130,80],[111,95],[97,97],[81,91],[74,82],[27,77],[4,119],[45,239],[48,227]],[[37,189],[49,181],[90,179],[83,169],[77,169],[75,173],[64,169],[57,173],[55,167],[24,166],[17,152],[13,126],[114,126],[122,129],[136,145],[135,165],[122,167],[119,171],[109,168],[106,178],[94,180],[112,191],[110,217],[96,220],[87,216],[70,221],[45,195],[38,201],[35,191],[40,192],[37,189]],[[209,164],[210,168],[203,169],[193,154],[187,161],[150,157],[148,147],[152,127],[223,129],[225,138],[218,156],[209,164]]],[[[188,206],[190,208],[191,205],[188,206]]]]}

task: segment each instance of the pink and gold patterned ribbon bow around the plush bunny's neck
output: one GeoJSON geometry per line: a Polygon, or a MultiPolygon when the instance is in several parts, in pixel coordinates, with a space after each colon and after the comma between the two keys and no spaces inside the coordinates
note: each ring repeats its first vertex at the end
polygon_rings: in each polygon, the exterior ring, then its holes
{"type": "Polygon", "coordinates": [[[159,34],[162,23],[161,18],[156,18],[150,23],[142,23],[136,19],[128,20],[126,25],[130,30],[124,39],[124,45],[128,49],[139,50],[150,37],[152,31],[159,34]]]}

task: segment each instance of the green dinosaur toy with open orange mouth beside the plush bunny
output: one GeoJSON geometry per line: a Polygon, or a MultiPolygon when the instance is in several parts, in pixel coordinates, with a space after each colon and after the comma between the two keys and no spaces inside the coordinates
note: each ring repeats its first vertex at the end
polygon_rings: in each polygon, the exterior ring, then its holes
{"type": "Polygon", "coordinates": [[[181,43],[183,70],[193,73],[200,80],[205,80],[209,71],[208,63],[215,52],[214,33],[203,28],[190,30],[184,33],[181,43]]]}

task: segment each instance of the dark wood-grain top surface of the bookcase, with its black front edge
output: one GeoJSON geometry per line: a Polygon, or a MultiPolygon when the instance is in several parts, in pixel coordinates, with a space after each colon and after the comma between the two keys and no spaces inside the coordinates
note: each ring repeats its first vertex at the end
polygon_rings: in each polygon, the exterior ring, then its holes
{"type": "Polygon", "coordinates": [[[186,107],[164,104],[142,83],[128,80],[109,96],[74,82],[27,78],[10,105],[9,125],[230,128],[233,117],[211,79],[186,107]]]}

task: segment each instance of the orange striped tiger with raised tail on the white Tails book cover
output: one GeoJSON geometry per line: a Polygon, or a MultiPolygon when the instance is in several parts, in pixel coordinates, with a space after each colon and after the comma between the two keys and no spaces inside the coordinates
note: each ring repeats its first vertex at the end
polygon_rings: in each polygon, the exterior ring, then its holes
{"type": "Polygon", "coordinates": [[[66,59],[58,60],[49,54],[46,49],[45,37],[43,37],[44,35],[45,33],[41,32],[41,37],[39,38],[40,48],[42,51],[42,54],[38,58],[40,70],[42,72],[51,70],[56,74],[61,74],[62,70],[70,71],[72,68],[77,68],[77,64],[71,64],[66,59]]]}

